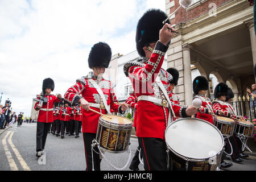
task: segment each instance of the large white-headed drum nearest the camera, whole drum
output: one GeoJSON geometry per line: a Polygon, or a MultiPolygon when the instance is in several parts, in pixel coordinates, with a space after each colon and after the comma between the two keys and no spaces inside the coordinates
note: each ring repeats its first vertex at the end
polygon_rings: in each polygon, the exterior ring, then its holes
{"type": "Polygon", "coordinates": [[[174,170],[214,171],[220,168],[224,138],[211,123],[181,118],[167,127],[165,138],[174,170]]]}

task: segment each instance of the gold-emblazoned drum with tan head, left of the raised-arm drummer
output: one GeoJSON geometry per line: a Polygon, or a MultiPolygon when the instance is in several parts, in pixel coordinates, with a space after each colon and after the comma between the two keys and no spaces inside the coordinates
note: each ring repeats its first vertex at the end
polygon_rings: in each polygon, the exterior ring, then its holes
{"type": "Polygon", "coordinates": [[[112,153],[126,151],[130,144],[133,122],[119,115],[106,115],[112,119],[104,116],[99,118],[96,141],[104,151],[112,153]]]}

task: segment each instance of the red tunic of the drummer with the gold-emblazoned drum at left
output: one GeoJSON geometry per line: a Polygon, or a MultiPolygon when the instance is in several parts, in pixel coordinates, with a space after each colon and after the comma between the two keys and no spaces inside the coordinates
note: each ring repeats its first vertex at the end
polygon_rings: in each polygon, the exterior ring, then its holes
{"type": "MultiPolygon", "coordinates": [[[[79,94],[84,97],[86,101],[93,104],[102,103],[100,94],[98,94],[96,88],[88,81],[89,78],[81,77],[76,80],[76,84],[71,86],[64,94],[64,98],[66,101],[70,102],[72,105],[75,105],[77,101],[80,100],[79,94]]],[[[98,86],[101,88],[104,96],[106,98],[108,106],[110,106],[110,110],[114,112],[118,112],[120,105],[114,104],[114,102],[118,102],[117,97],[114,94],[112,89],[112,83],[104,78],[96,79],[96,76],[93,76],[92,79],[97,82],[98,86]]],[[[106,109],[98,109],[97,107],[90,107],[93,110],[96,110],[102,114],[106,114],[106,109]]],[[[82,133],[97,133],[98,127],[98,119],[100,118],[100,114],[94,113],[93,111],[86,111],[82,109],[82,133]]]]}

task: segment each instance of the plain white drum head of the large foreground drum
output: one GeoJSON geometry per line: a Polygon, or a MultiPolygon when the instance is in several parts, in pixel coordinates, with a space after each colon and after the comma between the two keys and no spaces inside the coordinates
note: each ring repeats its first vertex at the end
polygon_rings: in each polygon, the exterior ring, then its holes
{"type": "Polygon", "coordinates": [[[185,158],[207,159],[224,147],[220,131],[203,119],[178,119],[167,127],[165,137],[171,150],[185,158]]]}

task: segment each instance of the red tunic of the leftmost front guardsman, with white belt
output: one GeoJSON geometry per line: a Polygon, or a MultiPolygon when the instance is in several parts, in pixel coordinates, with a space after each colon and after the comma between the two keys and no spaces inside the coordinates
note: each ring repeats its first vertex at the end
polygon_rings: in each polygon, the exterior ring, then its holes
{"type": "MultiPolygon", "coordinates": [[[[54,102],[60,102],[61,99],[57,98],[56,96],[50,94],[46,95],[44,97],[48,98],[47,103],[43,103],[42,109],[53,109],[53,103],[54,102]]],[[[40,99],[38,97],[38,99],[40,99]]],[[[36,102],[34,109],[36,110],[36,106],[38,106],[39,102],[36,102]]],[[[51,111],[44,111],[44,110],[39,110],[38,114],[38,122],[43,122],[43,123],[50,123],[53,122],[53,110],[51,111]]]]}

